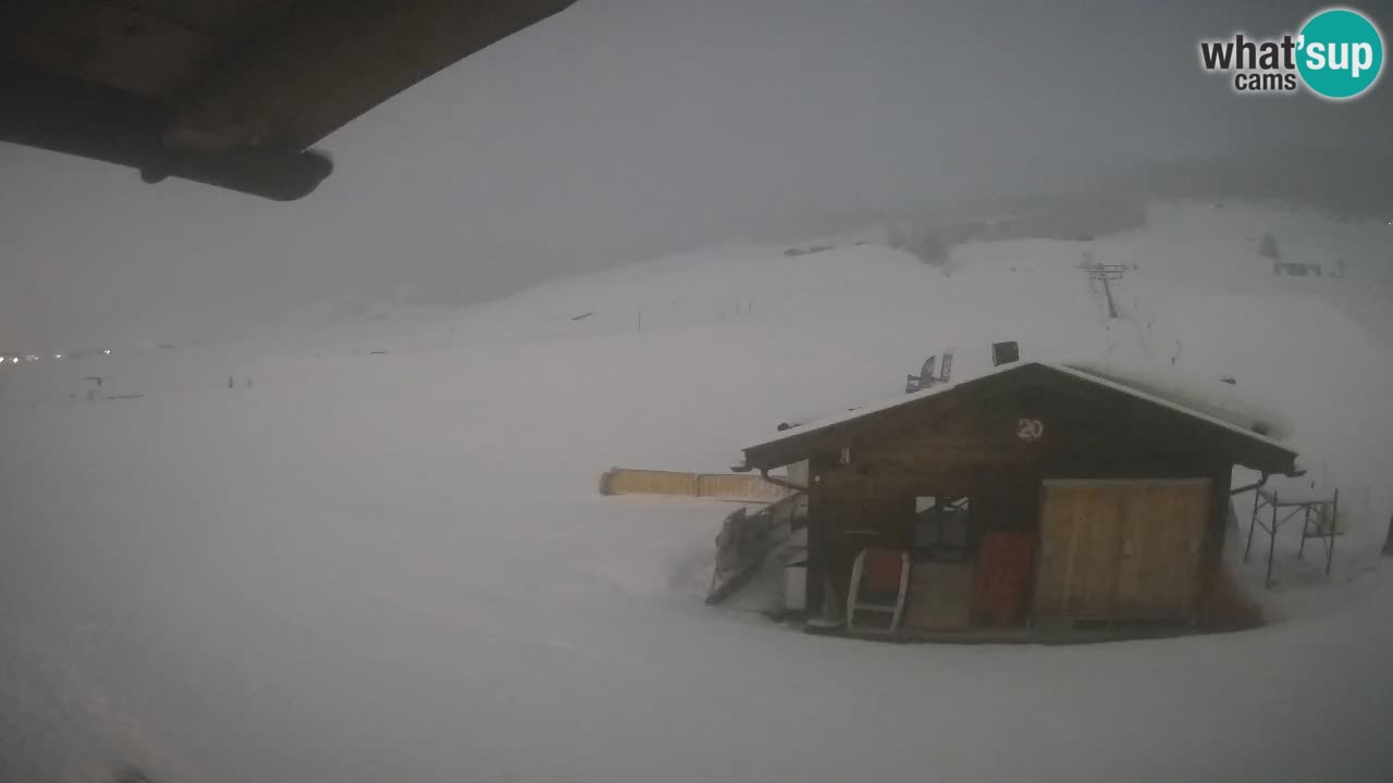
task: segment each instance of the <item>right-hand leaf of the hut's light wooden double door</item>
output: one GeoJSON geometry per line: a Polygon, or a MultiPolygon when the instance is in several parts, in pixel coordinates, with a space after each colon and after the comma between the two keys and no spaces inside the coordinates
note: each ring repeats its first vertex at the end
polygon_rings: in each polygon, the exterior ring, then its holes
{"type": "Polygon", "coordinates": [[[1127,490],[1117,616],[1178,619],[1195,613],[1209,495],[1209,479],[1127,490]]]}

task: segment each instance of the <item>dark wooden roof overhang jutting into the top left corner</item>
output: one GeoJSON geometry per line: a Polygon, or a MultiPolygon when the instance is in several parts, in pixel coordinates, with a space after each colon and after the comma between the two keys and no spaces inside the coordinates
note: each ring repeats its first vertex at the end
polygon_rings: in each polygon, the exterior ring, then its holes
{"type": "Polygon", "coordinates": [[[277,201],[329,176],[308,149],[574,0],[13,0],[0,141],[277,201]]]}

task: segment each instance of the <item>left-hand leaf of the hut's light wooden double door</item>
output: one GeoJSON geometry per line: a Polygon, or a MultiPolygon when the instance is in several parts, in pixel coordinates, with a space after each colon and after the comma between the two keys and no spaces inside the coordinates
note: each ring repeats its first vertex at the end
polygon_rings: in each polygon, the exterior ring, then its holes
{"type": "Polygon", "coordinates": [[[1124,488],[1109,482],[1046,482],[1032,610],[1106,617],[1117,589],[1124,488]]]}

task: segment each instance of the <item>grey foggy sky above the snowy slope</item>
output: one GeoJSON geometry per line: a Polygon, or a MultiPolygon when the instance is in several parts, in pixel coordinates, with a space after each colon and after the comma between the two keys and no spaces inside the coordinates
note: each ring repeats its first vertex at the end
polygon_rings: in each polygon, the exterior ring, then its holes
{"type": "Polygon", "coordinates": [[[1316,7],[579,0],[325,139],[334,174],[288,205],[0,145],[0,350],[177,339],[340,294],[462,304],[1137,160],[1376,144],[1386,74],[1334,104],[1236,96],[1198,67],[1201,38],[1316,7]]]}

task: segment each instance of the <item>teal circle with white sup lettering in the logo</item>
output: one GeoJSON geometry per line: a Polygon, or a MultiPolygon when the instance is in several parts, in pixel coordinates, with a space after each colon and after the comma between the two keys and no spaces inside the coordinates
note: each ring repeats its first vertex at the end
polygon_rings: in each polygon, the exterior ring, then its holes
{"type": "Polygon", "coordinates": [[[1355,98],[1379,81],[1383,36],[1364,14],[1328,8],[1307,20],[1297,38],[1297,71],[1311,92],[1332,100],[1355,98]]]}

